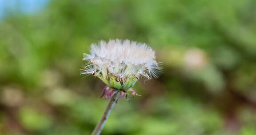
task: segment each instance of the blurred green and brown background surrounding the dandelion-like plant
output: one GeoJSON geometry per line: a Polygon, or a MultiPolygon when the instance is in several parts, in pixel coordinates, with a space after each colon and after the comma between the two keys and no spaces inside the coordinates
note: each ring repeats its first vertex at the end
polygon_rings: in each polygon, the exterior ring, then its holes
{"type": "Polygon", "coordinates": [[[107,100],[82,54],[116,38],[164,72],[102,135],[256,135],[255,0],[0,0],[0,135],[90,135],[107,100]]]}

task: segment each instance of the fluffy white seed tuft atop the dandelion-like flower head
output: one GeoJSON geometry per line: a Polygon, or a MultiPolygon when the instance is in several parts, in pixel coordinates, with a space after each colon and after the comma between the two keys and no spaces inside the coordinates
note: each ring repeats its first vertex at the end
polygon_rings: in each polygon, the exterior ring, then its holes
{"type": "Polygon", "coordinates": [[[123,81],[134,76],[157,78],[161,67],[155,59],[155,51],[146,44],[118,39],[100,41],[91,45],[90,54],[84,54],[83,60],[89,63],[81,74],[98,75],[107,70],[108,75],[123,81]]]}

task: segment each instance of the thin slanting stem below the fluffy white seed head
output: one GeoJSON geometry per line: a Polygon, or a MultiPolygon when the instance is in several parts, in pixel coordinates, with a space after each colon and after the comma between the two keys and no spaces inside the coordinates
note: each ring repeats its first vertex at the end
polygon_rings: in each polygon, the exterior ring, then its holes
{"type": "Polygon", "coordinates": [[[110,112],[112,111],[112,108],[114,107],[114,105],[116,104],[116,100],[118,98],[118,96],[120,95],[120,91],[117,91],[108,101],[108,106],[106,107],[103,115],[100,118],[100,121],[97,123],[96,127],[94,128],[94,130],[92,131],[92,135],[100,135],[107,119],[108,119],[108,115],[110,114],[110,112]]]}

